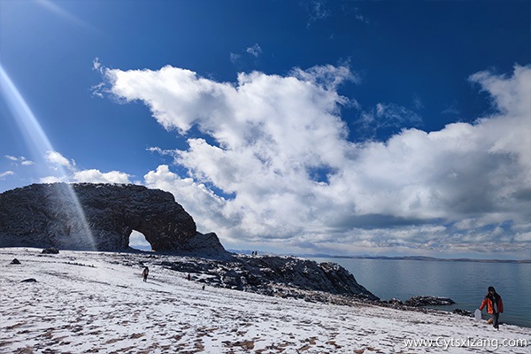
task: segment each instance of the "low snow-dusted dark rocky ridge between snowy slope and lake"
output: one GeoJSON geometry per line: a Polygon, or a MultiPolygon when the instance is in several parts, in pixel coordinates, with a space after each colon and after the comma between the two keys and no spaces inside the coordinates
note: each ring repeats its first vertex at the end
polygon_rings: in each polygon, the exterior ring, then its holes
{"type": "Polygon", "coordinates": [[[379,300],[335,263],[318,264],[295,257],[234,255],[230,260],[183,258],[159,264],[222,288],[300,298],[315,298],[315,291],[319,291],[354,296],[358,300],[379,300]]]}

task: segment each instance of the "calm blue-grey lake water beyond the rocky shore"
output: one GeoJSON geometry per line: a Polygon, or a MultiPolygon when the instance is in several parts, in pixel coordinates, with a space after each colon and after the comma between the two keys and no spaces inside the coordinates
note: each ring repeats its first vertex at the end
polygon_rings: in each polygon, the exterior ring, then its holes
{"type": "MultiPolygon", "coordinates": [[[[382,300],[405,301],[412,296],[450,297],[456,304],[441,310],[473,312],[487,288],[493,286],[504,300],[500,321],[531,327],[531,264],[440,262],[406,259],[312,258],[335,262],[382,300]]],[[[484,318],[487,313],[483,309],[484,318]]]]}

